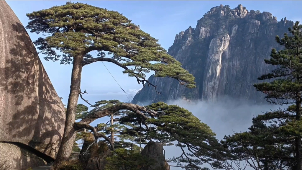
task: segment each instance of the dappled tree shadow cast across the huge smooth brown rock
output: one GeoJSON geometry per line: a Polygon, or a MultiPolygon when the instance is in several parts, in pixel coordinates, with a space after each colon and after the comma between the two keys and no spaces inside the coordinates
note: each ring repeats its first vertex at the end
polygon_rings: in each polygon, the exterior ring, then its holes
{"type": "MultiPolygon", "coordinates": [[[[7,137],[0,141],[22,142],[47,155],[54,155],[65,124],[65,110],[42,66],[36,49],[20,23],[11,25],[10,48],[5,67],[0,68],[0,90],[4,94],[0,126],[7,137]],[[3,118],[4,117],[4,118],[3,118]],[[60,132],[59,132],[60,131],[60,132]]],[[[1,95],[0,95],[1,97],[1,95]]],[[[0,98],[1,100],[1,98],[0,98]]]]}

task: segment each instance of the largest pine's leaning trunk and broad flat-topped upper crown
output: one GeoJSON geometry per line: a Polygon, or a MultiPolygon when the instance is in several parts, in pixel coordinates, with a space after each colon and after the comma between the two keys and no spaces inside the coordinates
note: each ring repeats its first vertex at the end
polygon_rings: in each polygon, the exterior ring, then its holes
{"type": "Polygon", "coordinates": [[[66,5],[32,12],[27,17],[30,20],[27,29],[37,34],[47,33],[34,41],[37,49],[46,55],[44,58],[72,64],[66,123],[56,162],[68,159],[78,130],[74,123],[83,66],[106,61],[124,68],[123,73],[135,77],[143,85],[156,88],[145,78],[145,73],[155,71],[155,77],[172,77],[188,88],[195,87],[193,75],[167,54],[158,40],[116,11],[67,2],[66,5]],[[95,51],[98,52],[97,57],[90,54],[95,51]],[[110,57],[106,57],[106,53],[110,57]],[[153,61],[157,63],[153,64],[153,61]]]}

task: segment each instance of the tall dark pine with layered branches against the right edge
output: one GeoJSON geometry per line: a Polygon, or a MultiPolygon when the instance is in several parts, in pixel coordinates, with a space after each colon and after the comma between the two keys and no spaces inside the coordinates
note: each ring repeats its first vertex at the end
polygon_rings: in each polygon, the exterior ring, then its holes
{"type": "Polygon", "coordinates": [[[292,104],[288,109],[283,111],[269,112],[264,116],[259,116],[259,120],[270,120],[270,122],[279,122],[281,127],[280,133],[292,136],[295,139],[294,159],[295,170],[301,170],[301,103],[302,103],[302,25],[297,21],[293,28],[289,28],[291,33],[284,38],[276,36],[276,41],[285,47],[284,50],[271,50],[271,58],[266,59],[265,63],[276,66],[271,73],[264,74],[259,80],[275,79],[271,82],[255,84],[256,90],[265,93],[265,99],[273,104],[283,105],[292,104]],[[294,107],[293,113],[291,108],[294,107]],[[275,119],[275,120],[274,120],[275,119]],[[286,124],[286,125],[284,125],[286,124]]]}

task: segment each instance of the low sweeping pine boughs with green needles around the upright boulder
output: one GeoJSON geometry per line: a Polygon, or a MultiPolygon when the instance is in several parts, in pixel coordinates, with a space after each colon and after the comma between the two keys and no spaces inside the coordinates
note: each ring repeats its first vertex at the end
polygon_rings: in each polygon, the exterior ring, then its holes
{"type": "MultiPolygon", "coordinates": [[[[89,113],[95,113],[96,110],[110,109],[120,104],[126,103],[118,100],[98,101],[89,113]]],[[[209,126],[202,123],[188,110],[176,105],[158,102],[145,107],[146,110],[140,111],[141,114],[137,114],[133,110],[117,110],[117,112],[107,115],[113,115],[115,122],[113,126],[108,121],[108,123],[100,123],[94,127],[97,133],[106,136],[103,138],[107,138],[108,142],[111,141],[109,138],[113,127],[115,135],[114,149],[117,153],[110,160],[114,160],[116,166],[124,164],[124,160],[116,160],[119,158],[118,155],[126,152],[123,150],[124,148],[140,150],[142,148],[135,145],[135,143],[145,143],[150,140],[162,142],[164,145],[174,145],[173,143],[176,143],[175,146],[179,147],[182,152],[179,156],[169,159],[169,162],[194,169],[207,169],[200,167],[204,163],[219,166],[217,160],[221,160],[220,156],[223,156],[221,152],[224,151],[224,148],[219,144],[215,138],[216,134],[209,126]],[[148,110],[153,110],[159,114],[149,114],[148,110]]],[[[85,121],[85,119],[84,117],[81,121],[85,121]]],[[[127,154],[129,153],[127,152],[127,154]]],[[[135,154],[132,156],[135,156],[135,154]]]]}

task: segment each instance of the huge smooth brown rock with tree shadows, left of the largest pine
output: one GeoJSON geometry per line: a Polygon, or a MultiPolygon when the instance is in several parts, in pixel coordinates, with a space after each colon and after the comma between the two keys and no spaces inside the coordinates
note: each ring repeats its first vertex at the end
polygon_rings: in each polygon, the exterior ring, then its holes
{"type": "Polygon", "coordinates": [[[39,164],[24,157],[24,148],[1,142],[25,144],[54,158],[64,124],[63,103],[34,44],[12,9],[0,1],[0,161],[8,160],[12,169],[39,164]]]}

